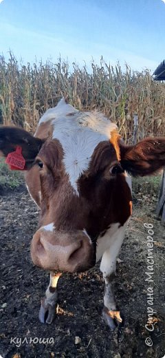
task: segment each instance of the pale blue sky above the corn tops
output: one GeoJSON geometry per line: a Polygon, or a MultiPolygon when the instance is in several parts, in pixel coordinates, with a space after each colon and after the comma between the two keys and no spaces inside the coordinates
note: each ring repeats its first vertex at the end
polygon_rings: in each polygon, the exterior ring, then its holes
{"type": "Polygon", "coordinates": [[[61,54],[80,66],[155,70],[165,59],[165,0],[0,0],[0,54],[33,63],[61,54]]]}

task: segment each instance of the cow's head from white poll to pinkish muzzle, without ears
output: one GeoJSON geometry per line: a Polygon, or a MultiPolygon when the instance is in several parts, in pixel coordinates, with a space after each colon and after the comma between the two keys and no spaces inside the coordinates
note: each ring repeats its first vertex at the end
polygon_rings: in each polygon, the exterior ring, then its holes
{"type": "Polygon", "coordinates": [[[115,125],[100,114],[72,112],[56,118],[49,128],[50,136],[26,178],[28,186],[37,178],[35,191],[41,193],[37,199],[30,190],[41,207],[32,260],[51,270],[83,271],[96,263],[100,235],[112,222],[123,224],[130,215],[131,193],[119,161],[119,136],[115,125]],[[122,218],[117,213],[117,176],[126,207],[122,218]]]}

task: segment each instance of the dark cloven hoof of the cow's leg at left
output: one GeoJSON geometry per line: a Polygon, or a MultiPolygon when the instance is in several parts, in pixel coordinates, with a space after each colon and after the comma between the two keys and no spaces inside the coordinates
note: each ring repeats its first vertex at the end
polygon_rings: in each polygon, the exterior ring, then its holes
{"type": "Polygon", "coordinates": [[[41,307],[39,310],[39,320],[41,323],[51,324],[56,315],[56,304],[46,302],[46,299],[41,300],[41,307]]]}

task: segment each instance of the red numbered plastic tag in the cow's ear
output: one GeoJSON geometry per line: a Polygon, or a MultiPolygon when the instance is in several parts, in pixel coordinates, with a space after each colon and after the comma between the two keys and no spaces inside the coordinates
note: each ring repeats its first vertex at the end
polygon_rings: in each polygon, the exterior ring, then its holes
{"type": "Polygon", "coordinates": [[[23,170],[25,168],[25,159],[22,156],[22,148],[17,147],[16,151],[9,153],[5,162],[11,170],[23,170]]]}

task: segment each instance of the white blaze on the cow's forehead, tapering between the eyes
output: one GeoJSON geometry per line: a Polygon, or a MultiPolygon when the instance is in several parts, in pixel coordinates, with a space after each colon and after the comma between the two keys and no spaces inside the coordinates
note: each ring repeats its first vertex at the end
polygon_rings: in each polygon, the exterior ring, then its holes
{"type": "Polygon", "coordinates": [[[111,138],[111,131],[116,126],[97,112],[78,112],[56,118],[53,125],[53,138],[58,139],[63,147],[65,171],[78,195],[78,178],[88,169],[94,149],[100,142],[111,138]]]}

